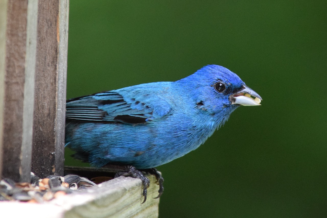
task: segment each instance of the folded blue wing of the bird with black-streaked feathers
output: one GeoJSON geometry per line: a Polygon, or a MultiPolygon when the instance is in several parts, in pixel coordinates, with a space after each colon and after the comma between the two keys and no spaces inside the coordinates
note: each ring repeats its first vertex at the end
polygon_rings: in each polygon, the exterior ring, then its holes
{"type": "Polygon", "coordinates": [[[167,101],[157,95],[131,88],[67,100],[66,119],[139,124],[162,118],[170,112],[171,107],[167,101]]]}

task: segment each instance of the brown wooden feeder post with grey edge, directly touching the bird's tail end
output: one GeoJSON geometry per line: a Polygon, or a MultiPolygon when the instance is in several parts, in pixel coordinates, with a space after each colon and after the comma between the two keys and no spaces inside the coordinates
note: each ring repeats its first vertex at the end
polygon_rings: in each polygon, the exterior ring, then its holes
{"type": "Polygon", "coordinates": [[[32,172],[63,175],[69,0],[39,0],[32,172]]]}

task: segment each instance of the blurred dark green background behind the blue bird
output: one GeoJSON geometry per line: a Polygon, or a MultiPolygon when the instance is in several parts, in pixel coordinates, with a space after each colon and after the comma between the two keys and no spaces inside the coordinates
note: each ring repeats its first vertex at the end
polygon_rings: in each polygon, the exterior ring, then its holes
{"type": "Polygon", "coordinates": [[[262,106],[157,168],[160,217],[327,217],[326,6],[70,0],[67,98],[225,66],[262,106]]]}

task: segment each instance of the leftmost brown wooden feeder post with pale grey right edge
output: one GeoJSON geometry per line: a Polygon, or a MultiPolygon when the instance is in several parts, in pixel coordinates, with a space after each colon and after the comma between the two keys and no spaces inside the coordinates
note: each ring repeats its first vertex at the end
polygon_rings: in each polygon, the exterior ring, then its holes
{"type": "Polygon", "coordinates": [[[29,181],[37,0],[0,2],[1,177],[29,181]]]}

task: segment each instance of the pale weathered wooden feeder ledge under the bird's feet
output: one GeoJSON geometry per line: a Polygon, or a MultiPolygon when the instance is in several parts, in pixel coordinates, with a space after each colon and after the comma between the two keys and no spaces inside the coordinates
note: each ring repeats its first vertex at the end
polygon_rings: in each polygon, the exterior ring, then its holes
{"type": "Polygon", "coordinates": [[[159,186],[155,176],[148,175],[150,187],[144,204],[142,182],[130,177],[118,177],[98,186],[76,191],[43,204],[28,204],[15,201],[0,202],[1,213],[11,217],[26,214],[43,214],[46,217],[158,217],[159,186]],[[17,209],[19,208],[19,209],[17,209]]]}

